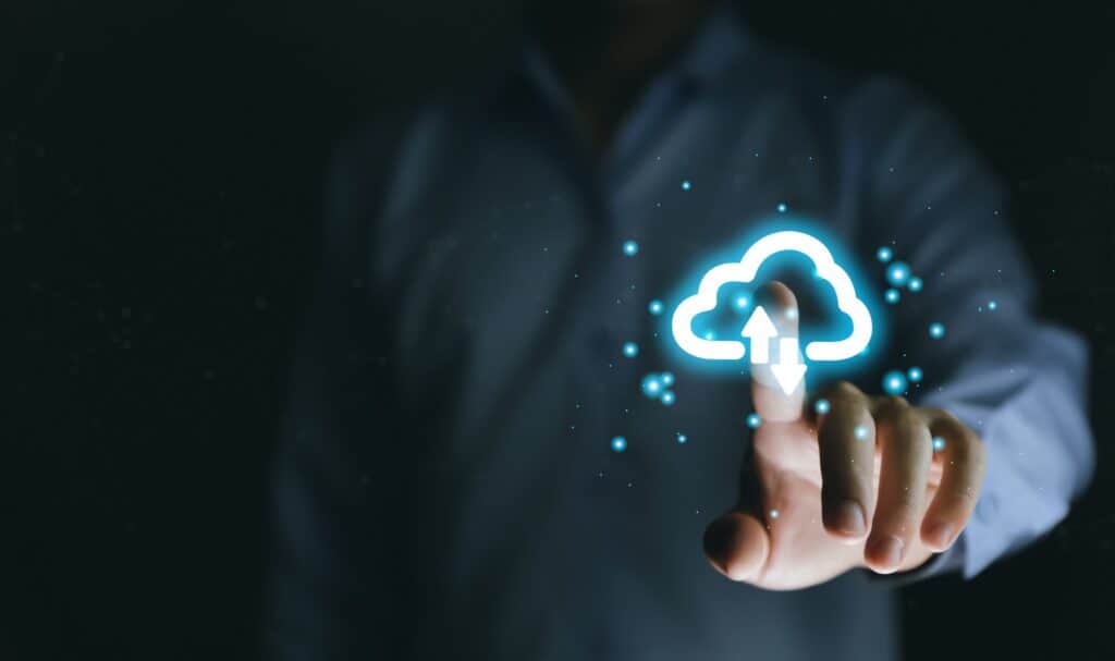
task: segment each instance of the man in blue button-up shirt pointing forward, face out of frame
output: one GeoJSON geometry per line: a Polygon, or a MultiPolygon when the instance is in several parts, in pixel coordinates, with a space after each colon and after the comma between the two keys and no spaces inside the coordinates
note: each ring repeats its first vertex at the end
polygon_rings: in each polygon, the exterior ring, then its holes
{"type": "MultiPolygon", "coordinates": [[[[938,111],[701,2],[603,7],[340,150],[274,658],[890,659],[896,584],[978,574],[1086,484],[1085,349],[1030,315],[1001,187],[938,111]],[[676,357],[648,301],[779,204],[923,278],[884,360],[923,368],[913,404],[680,366],[672,407],[639,392],[676,357]]],[[[795,294],[762,291],[783,334],[795,294]]]]}

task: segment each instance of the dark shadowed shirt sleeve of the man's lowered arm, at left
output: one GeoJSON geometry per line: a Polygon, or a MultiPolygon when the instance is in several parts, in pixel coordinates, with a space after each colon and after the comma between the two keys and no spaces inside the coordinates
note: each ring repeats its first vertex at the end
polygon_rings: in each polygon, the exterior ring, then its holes
{"type": "Polygon", "coordinates": [[[391,507],[404,473],[399,420],[384,356],[388,303],[368,280],[365,155],[378,132],[350,139],[326,185],[319,273],[295,340],[289,401],[271,472],[269,659],[391,658],[391,541],[407,525],[391,507]]]}

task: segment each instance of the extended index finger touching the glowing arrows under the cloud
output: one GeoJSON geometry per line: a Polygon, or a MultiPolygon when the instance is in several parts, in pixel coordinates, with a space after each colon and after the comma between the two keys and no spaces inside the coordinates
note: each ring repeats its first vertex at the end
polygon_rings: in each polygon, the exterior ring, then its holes
{"type": "Polygon", "coordinates": [[[763,420],[789,421],[802,415],[805,401],[805,364],[797,337],[797,298],[773,280],[756,294],[756,305],[744,324],[752,362],[752,402],[763,420]],[[769,319],[770,323],[766,323],[769,319]],[[773,325],[774,334],[768,332],[773,325]],[[764,332],[767,331],[767,332],[764,332]],[[796,385],[786,392],[783,386],[796,385]]]}

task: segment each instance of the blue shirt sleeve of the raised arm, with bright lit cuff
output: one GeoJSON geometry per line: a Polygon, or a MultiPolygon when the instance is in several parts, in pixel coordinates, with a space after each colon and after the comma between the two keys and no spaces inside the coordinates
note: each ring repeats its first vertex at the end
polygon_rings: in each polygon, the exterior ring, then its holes
{"type": "Polygon", "coordinates": [[[902,363],[893,367],[920,367],[911,399],[949,410],[988,449],[967,528],[922,573],[959,567],[971,577],[1048,532],[1086,486],[1087,348],[1035,315],[1004,186],[944,115],[894,85],[867,97],[873,110],[859,117],[885,130],[864,165],[866,240],[891,246],[923,282],[891,310],[891,356],[902,363]]]}

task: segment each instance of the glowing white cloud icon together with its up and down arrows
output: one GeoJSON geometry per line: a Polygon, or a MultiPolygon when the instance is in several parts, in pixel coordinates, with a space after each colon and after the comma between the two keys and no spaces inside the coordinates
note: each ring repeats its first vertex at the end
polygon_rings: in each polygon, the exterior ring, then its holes
{"type": "MultiPolygon", "coordinates": [[[[852,320],[852,332],[837,341],[814,341],[805,346],[805,356],[813,361],[847,360],[860,354],[871,341],[872,323],[867,307],[855,293],[847,272],[833,259],[824,243],[804,232],[785,231],[767,234],[756,241],[738,262],[718,264],[710,269],[697,288],[697,293],[681,301],[673,311],[671,329],[673,340],[686,353],[704,360],[740,360],[747,354],[744,342],[738,340],[709,340],[692,331],[694,319],[716,308],[717,291],[729,282],[748,283],[755,280],[759,266],[772,255],[797,252],[813,261],[818,278],[826,280],[836,292],[836,307],[852,320]]],[[[767,342],[774,337],[769,318],[757,307],[741,333],[752,339],[752,362],[767,362],[767,342]],[[762,348],[759,346],[762,344],[762,348]]],[[[783,390],[792,392],[805,375],[806,367],[797,364],[797,339],[780,338],[780,364],[772,366],[783,390]]]]}

